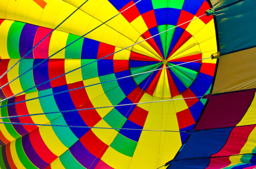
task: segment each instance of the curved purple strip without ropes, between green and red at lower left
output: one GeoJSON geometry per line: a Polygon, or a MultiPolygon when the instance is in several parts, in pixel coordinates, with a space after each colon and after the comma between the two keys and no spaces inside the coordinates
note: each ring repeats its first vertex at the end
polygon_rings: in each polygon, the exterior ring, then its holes
{"type": "Polygon", "coordinates": [[[30,139],[29,134],[26,134],[22,137],[22,147],[24,149],[25,154],[27,155],[27,158],[38,168],[45,168],[49,164],[46,163],[42,158],[39,157],[37,152],[35,152],[35,149],[33,148],[30,139]]]}

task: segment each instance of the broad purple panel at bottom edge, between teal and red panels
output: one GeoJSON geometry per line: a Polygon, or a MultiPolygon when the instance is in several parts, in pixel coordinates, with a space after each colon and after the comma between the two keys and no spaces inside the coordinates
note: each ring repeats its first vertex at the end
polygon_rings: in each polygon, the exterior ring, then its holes
{"type": "Polygon", "coordinates": [[[73,146],[69,148],[71,154],[76,158],[76,160],[86,168],[95,168],[99,162],[99,158],[96,158],[82,145],[80,140],[78,140],[73,146]],[[86,158],[84,158],[86,157],[86,158]]]}

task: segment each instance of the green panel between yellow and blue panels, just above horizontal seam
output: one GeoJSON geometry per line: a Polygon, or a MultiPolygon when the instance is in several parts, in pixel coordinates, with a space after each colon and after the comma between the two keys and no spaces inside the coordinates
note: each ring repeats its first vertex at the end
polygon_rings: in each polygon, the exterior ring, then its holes
{"type": "MultiPolygon", "coordinates": [[[[78,39],[80,36],[69,34],[67,37],[67,44],[71,44],[73,41],[78,39]]],[[[84,38],[79,39],[72,45],[68,46],[65,49],[65,58],[66,59],[81,59],[82,53],[82,45],[83,45],[84,38]]]]}

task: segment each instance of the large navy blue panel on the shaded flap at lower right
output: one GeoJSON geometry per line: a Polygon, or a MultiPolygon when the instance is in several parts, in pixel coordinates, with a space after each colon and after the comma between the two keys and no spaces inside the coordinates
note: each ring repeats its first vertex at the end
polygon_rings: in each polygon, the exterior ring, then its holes
{"type": "Polygon", "coordinates": [[[194,131],[175,159],[210,157],[225,145],[232,129],[194,131]]]}

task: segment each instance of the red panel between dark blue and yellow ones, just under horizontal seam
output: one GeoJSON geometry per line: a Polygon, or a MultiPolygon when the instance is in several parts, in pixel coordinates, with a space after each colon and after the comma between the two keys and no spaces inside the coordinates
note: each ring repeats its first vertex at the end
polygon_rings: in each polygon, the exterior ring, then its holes
{"type": "MultiPolygon", "coordinates": [[[[49,59],[48,62],[49,79],[55,78],[65,73],[65,59],[49,59]]],[[[50,81],[52,88],[67,84],[66,77],[61,76],[50,81]]]]}

